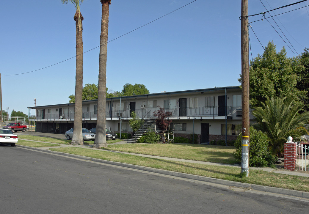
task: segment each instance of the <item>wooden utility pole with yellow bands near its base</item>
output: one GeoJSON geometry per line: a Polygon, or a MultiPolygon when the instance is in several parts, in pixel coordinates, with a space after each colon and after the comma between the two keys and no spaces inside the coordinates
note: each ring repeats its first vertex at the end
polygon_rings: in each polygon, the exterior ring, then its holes
{"type": "Polygon", "coordinates": [[[249,175],[249,50],[248,0],[241,1],[241,172],[249,175]]]}

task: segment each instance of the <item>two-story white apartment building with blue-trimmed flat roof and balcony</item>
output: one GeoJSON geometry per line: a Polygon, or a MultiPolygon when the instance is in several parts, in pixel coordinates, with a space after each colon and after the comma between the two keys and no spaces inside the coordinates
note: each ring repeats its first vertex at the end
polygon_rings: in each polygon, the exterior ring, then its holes
{"type": "MultiPolygon", "coordinates": [[[[131,132],[130,112],[145,119],[159,107],[171,112],[175,136],[195,133],[198,141],[234,140],[241,132],[239,86],[163,92],[106,99],[106,127],[131,132]]],[[[36,132],[65,133],[74,124],[74,103],[29,107],[35,109],[36,132]]],[[[83,101],[83,127],[96,127],[97,100],[83,101]]],[[[250,120],[253,117],[250,116],[250,120]]]]}

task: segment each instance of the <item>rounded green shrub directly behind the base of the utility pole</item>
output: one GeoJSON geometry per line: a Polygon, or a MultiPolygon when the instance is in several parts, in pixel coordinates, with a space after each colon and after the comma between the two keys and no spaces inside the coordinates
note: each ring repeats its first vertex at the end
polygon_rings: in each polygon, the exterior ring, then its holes
{"type": "MultiPolygon", "coordinates": [[[[235,141],[236,151],[233,153],[236,161],[239,162],[241,162],[241,140],[240,134],[235,141]]],[[[250,127],[249,166],[265,167],[277,161],[277,157],[270,153],[268,143],[269,140],[265,133],[250,127]]]]}

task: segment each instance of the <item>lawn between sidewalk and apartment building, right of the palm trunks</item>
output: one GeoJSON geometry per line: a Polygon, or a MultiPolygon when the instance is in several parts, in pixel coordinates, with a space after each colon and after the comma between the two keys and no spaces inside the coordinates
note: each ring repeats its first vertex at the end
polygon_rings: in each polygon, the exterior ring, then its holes
{"type": "Polygon", "coordinates": [[[196,144],[117,144],[108,145],[108,150],[173,157],[187,160],[235,164],[235,147],[196,144]]]}

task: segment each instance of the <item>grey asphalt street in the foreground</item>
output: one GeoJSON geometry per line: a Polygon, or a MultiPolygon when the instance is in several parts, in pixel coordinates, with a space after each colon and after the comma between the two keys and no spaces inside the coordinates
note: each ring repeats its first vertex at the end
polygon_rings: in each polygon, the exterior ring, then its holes
{"type": "Polygon", "coordinates": [[[275,197],[20,147],[0,146],[0,213],[306,213],[275,197]]]}

